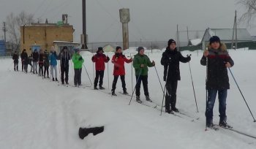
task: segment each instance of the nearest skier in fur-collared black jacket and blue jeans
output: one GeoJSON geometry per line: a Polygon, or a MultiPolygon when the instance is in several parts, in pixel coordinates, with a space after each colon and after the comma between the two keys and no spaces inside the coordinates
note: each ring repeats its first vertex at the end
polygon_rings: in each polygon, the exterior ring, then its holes
{"type": "Polygon", "coordinates": [[[219,97],[219,126],[227,125],[226,99],[227,89],[230,89],[227,68],[234,65],[234,61],[227,52],[227,47],[220,42],[219,37],[210,38],[208,50],[205,50],[200,63],[207,66],[206,90],[208,91],[206,104],[206,126],[212,127],[213,109],[218,93],[219,97]]]}

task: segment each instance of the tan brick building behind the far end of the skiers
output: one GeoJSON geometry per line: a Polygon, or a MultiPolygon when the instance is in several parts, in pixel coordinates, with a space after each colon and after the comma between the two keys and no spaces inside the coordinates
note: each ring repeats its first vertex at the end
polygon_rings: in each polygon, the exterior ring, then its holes
{"type": "MultiPolygon", "coordinates": [[[[20,26],[20,52],[26,49],[50,50],[54,46],[53,41],[73,42],[73,26],[69,24],[58,25],[56,23],[36,23],[29,26],[20,26]]],[[[57,52],[59,48],[56,47],[57,52]]]]}

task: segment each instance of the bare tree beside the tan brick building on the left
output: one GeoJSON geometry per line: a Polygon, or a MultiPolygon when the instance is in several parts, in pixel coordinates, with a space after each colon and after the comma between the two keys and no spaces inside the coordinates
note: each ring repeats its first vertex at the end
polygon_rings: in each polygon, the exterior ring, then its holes
{"type": "Polygon", "coordinates": [[[20,48],[20,26],[26,26],[34,22],[33,15],[26,14],[22,11],[20,14],[15,16],[13,13],[7,16],[7,35],[8,40],[13,45],[13,50],[20,48]]]}

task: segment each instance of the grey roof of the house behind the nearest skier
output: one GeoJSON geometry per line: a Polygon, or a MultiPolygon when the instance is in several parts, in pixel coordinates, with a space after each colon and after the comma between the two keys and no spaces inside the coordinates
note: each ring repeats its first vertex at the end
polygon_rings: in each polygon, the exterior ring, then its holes
{"type": "MultiPolygon", "coordinates": [[[[218,36],[221,40],[232,40],[233,28],[208,28],[203,35],[203,41],[206,41],[213,36],[218,36]]],[[[234,39],[236,39],[235,35],[234,39]]],[[[252,40],[252,36],[246,28],[237,28],[237,39],[248,41],[252,40]]]]}

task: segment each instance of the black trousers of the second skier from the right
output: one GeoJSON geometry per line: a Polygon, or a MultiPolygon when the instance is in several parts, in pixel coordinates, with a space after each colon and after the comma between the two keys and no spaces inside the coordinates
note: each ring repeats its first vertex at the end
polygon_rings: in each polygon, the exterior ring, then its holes
{"type": "Polygon", "coordinates": [[[176,91],[178,86],[178,80],[171,80],[166,83],[166,94],[165,94],[165,109],[170,110],[176,107],[176,91]]]}

